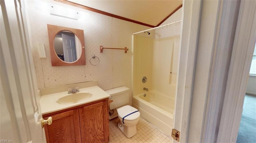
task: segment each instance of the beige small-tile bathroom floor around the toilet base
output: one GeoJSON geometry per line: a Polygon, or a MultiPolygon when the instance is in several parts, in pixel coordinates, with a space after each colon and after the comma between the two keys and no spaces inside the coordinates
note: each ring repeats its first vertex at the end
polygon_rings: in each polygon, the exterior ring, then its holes
{"type": "Polygon", "coordinates": [[[158,130],[154,125],[140,117],[137,127],[137,134],[127,138],[117,127],[119,119],[110,120],[110,141],[109,143],[171,143],[172,139],[158,130]]]}

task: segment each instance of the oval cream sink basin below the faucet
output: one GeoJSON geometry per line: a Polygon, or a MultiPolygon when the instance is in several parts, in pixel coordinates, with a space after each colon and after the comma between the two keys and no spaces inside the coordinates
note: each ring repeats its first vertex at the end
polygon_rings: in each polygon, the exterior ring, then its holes
{"type": "Polygon", "coordinates": [[[62,98],[59,98],[57,103],[58,104],[73,104],[76,102],[81,102],[85,99],[89,99],[92,97],[92,94],[89,92],[77,92],[68,94],[66,96],[63,96],[62,98]]]}

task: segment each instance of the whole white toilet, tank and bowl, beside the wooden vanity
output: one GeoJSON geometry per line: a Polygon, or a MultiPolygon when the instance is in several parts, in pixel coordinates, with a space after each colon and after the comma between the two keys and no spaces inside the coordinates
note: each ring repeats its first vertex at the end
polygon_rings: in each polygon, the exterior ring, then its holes
{"type": "Polygon", "coordinates": [[[128,138],[133,137],[137,133],[136,124],[140,119],[140,112],[127,105],[129,103],[130,89],[122,86],[110,90],[106,90],[110,96],[112,103],[110,103],[110,110],[117,108],[117,114],[119,118],[118,128],[128,138]]]}

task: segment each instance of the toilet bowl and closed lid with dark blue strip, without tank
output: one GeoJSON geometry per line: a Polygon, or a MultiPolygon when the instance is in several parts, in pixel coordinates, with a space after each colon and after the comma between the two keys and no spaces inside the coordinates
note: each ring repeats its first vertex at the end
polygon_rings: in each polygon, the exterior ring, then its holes
{"type": "Polygon", "coordinates": [[[136,124],[140,119],[140,112],[129,105],[123,106],[117,109],[118,113],[118,128],[128,138],[134,136],[137,133],[136,124]]]}

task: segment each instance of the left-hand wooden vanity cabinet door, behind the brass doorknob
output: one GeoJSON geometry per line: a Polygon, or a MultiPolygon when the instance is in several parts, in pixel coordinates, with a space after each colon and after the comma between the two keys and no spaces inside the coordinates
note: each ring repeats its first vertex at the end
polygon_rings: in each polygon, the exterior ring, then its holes
{"type": "Polygon", "coordinates": [[[81,143],[78,109],[51,117],[52,124],[44,125],[47,143],[81,143]]]}

